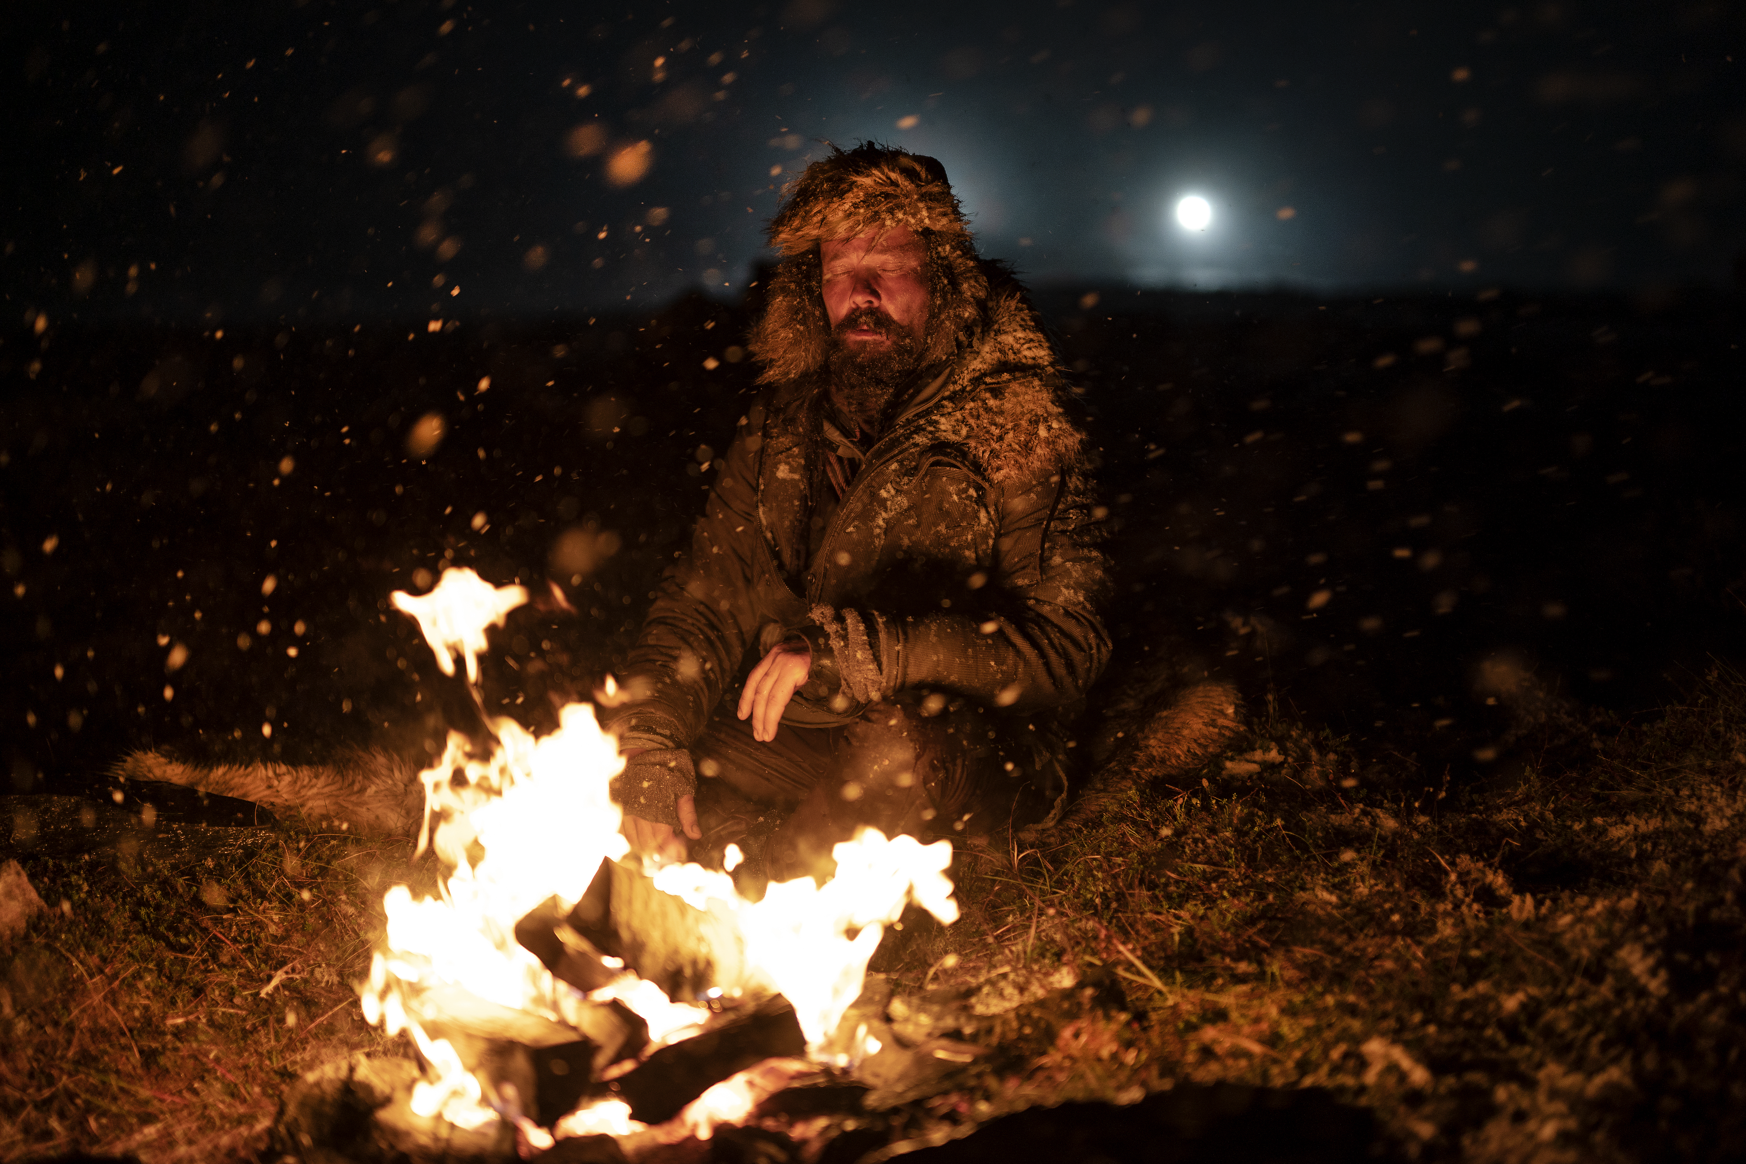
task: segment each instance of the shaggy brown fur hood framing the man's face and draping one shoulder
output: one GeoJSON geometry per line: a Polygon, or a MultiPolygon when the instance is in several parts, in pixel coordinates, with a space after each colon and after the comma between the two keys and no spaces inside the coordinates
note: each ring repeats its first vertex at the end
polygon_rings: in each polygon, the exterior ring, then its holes
{"type": "Polygon", "coordinates": [[[892,429],[966,448],[990,480],[1032,476],[1044,466],[1072,473],[1084,435],[1069,417],[1070,394],[1042,321],[1023,286],[976,244],[945,168],[876,143],[838,150],[789,183],[770,222],[782,255],[749,347],[760,382],[779,398],[826,384],[831,328],[824,311],[819,243],[864,230],[908,227],[927,248],[929,328],[922,363],[946,382],[899,412],[892,429]]]}

